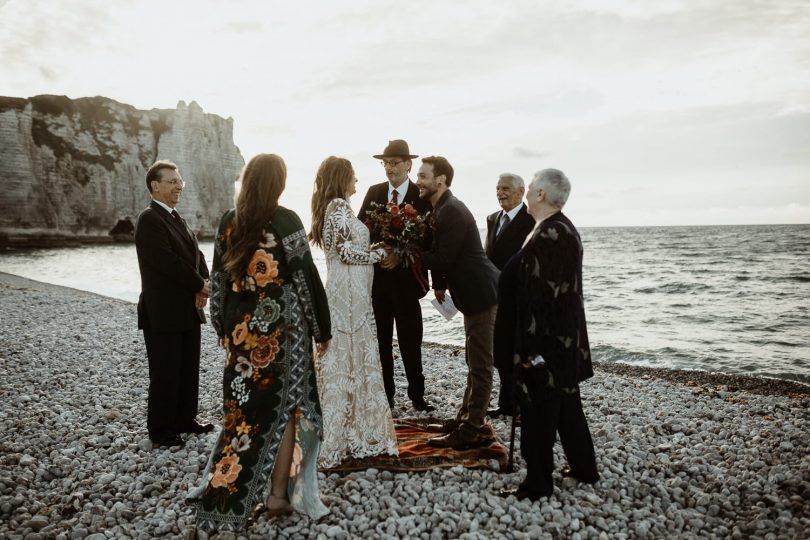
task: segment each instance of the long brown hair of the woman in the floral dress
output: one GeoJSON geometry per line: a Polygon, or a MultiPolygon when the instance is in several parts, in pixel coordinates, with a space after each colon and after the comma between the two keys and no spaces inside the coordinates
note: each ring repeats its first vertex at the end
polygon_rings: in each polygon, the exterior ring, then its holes
{"type": "Polygon", "coordinates": [[[259,154],[245,165],[239,179],[242,187],[236,198],[236,217],[223,256],[225,271],[232,281],[247,273],[262,228],[270,221],[284,191],[287,166],[275,154],[259,154]]]}

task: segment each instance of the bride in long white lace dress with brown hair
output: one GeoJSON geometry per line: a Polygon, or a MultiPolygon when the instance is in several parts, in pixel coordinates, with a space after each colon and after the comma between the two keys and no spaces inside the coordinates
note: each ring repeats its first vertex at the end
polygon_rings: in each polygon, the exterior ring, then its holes
{"type": "Polygon", "coordinates": [[[368,229],[349,206],[356,182],[348,160],[328,157],[318,169],[312,195],[309,236],[326,255],[332,317],[332,343],[317,368],[323,413],[318,464],[325,468],[347,457],[398,454],[371,308],[373,265],[386,251],[369,247],[368,229]]]}

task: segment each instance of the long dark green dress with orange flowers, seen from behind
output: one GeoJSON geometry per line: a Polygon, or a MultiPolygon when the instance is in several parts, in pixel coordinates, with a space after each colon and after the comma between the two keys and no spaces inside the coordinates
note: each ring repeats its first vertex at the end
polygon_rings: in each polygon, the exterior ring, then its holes
{"type": "Polygon", "coordinates": [[[220,223],[211,271],[211,322],[227,349],[223,429],[189,494],[202,529],[239,530],[269,494],[276,452],[291,417],[296,443],[288,494],[312,518],[320,500],[317,456],[321,410],[312,339],[331,337],[329,308],[298,216],[278,207],[247,274],[233,282],[222,256],[235,211],[220,223]]]}

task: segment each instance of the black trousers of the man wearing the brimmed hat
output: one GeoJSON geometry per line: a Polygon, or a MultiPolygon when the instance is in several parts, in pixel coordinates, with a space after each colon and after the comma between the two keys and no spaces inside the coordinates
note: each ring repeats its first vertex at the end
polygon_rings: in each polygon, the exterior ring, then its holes
{"type": "Polygon", "coordinates": [[[422,374],[422,308],[418,298],[403,298],[395,293],[382,293],[372,297],[374,319],[377,323],[377,341],[380,346],[383,386],[388,400],[394,398],[394,324],[405,377],[408,379],[408,397],[411,401],[424,399],[425,376],[422,374]]]}

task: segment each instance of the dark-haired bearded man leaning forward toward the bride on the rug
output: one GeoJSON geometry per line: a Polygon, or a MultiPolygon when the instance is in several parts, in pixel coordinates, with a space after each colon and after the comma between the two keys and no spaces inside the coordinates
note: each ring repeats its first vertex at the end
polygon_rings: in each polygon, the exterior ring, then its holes
{"type": "Polygon", "coordinates": [[[484,428],[492,392],[492,332],[497,311],[498,269],[487,259],[481,235],[470,211],[450,192],[453,167],[447,159],[426,157],[419,168],[419,196],[433,206],[433,242],[422,253],[422,264],[433,276],[439,302],[449,288],[453,302],[464,315],[467,387],[455,420],[431,446],[463,450],[489,445],[493,439],[484,428]]]}

